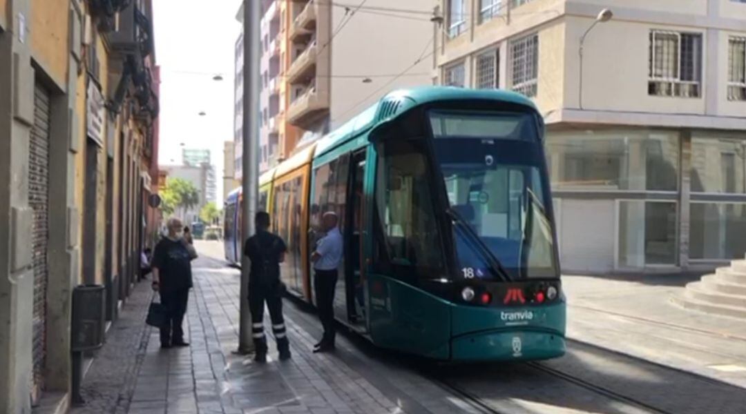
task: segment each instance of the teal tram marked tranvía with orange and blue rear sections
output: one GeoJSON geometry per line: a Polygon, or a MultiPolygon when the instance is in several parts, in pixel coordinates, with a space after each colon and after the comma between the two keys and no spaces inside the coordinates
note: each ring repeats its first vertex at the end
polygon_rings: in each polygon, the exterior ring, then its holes
{"type": "MultiPolygon", "coordinates": [[[[260,208],[289,248],[289,292],[315,302],[310,253],[335,211],[345,238],[335,314],[374,344],[457,362],[561,356],[543,134],[536,107],[513,92],[386,95],[260,178],[260,208]]],[[[231,194],[225,208],[234,263],[239,204],[231,194]]]]}

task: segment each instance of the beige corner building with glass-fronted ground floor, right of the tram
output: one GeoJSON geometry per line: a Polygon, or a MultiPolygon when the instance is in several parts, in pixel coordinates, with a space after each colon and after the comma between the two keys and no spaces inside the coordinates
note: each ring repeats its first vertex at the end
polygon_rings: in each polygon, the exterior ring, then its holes
{"type": "Polygon", "coordinates": [[[742,257],[746,1],[441,7],[439,83],[512,89],[545,116],[565,272],[742,257]]]}

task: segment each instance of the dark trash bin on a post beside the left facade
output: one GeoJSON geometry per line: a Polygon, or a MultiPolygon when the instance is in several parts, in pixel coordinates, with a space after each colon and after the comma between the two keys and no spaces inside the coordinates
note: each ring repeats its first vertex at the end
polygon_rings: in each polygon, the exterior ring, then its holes
{"type": "Polygon", "coordinates": [[[105,307],[103,285],[86,284],[72,290],[70,348],[73,352],[91,351],[104,345],[105,307]]]}

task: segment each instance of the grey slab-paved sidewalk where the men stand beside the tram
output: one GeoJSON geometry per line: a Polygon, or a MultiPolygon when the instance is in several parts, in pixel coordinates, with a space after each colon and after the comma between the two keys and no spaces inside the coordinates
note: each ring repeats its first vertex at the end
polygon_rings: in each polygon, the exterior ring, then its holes
{"type": "MultiPolygon", "coordinates": [[[[315,317],[285,304],[292,360],[279,362],[268,335],[266,364],[238,347],[239,272],[225,267],[218,243],[198,243],[195,288],[184,324],[189,348],[161,350],[148,328],[129,413],[453,413],[458,398],[411,369],[373,360],[345,337],[334,354],[313,354],[315,317]],[[210,251],[214,249],[215,251],[210,251]]],[[[269,316],[267,316],[269,319],[269,316]]],[[[269,321],[265,326],[271,326],[269,321]]],[[[390,361],[389,361],[390,362],[390,361]]]]}

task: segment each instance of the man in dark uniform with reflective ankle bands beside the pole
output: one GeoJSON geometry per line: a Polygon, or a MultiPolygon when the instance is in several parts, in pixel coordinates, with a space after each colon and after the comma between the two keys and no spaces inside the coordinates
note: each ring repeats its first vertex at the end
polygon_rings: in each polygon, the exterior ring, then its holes
{"type": "Polygon", "coordinates": [[[272,333],[278,343],[280,360],[290,358],[290,343],[282,316],[282,294],[280,263],[285,261],[287,246],[277,235],[269,232],[269,214],[264,211],[254,217],[257,234],[246,241],[244,254],[251,260],[248,276],[248,305],[251,309],[251,337],[254,338],[256,355],[254,360],[266,362],[267,340],[264,336],[264,302],[272,319],[272,333]]]}

